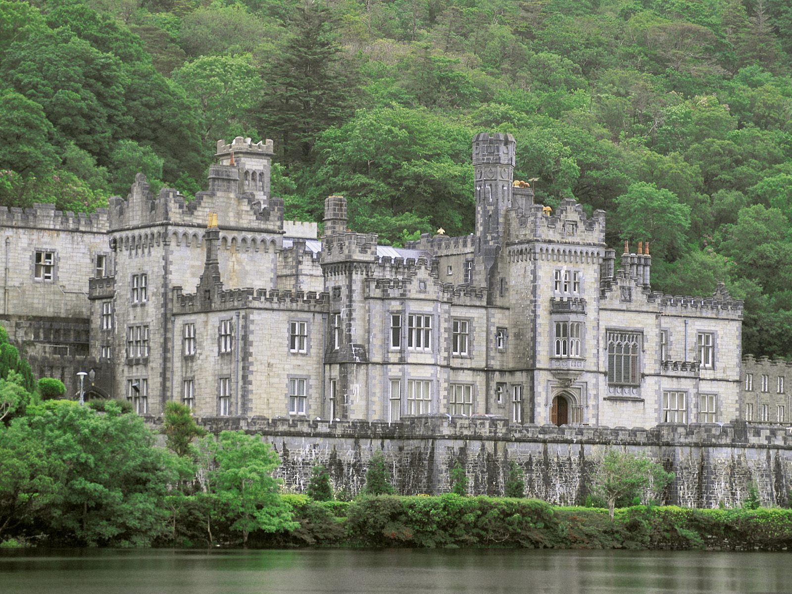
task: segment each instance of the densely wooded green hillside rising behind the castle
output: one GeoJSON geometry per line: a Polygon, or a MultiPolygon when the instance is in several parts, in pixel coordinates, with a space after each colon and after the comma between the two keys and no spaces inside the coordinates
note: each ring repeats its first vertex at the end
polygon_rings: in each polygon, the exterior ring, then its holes
{"type": "Polygon", "coordinates": [[[189,195],[246,135],[288,217],[465,234],[470,139],[508,131],[537,200],[648,239],[657,290],[724,280],[744,351],[792,356],[790,55],[788,0],[2,0],[0,197],[189,195]]]}

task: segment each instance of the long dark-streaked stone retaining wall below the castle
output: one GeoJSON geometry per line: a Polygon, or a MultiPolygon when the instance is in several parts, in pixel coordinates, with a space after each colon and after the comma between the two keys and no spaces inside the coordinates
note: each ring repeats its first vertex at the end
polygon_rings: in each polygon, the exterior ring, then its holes
{"type": "MultiPolygon", "coordinates": [[[[158,421],[150,419],[156,424],[158,421]]],[[[324,464],[336,490],[359,493],[371,456],[383,451],[398,493],[444,493],[456,460],[473,494],[501,495],[509,463],[525,471],[526,496],[582,504],[607,447],[645,453],[676,478],[661,503],[714,508],[741,505],[755,482],[763,505],[786,505],[792,434],[778,426],[657,425],[645,428],[508,425],[503,417],[406,417],[400,423],[212,417],[211,432],[243,429],[275,447],[278,475],[303,493],[310,469],[324,464]]]]}

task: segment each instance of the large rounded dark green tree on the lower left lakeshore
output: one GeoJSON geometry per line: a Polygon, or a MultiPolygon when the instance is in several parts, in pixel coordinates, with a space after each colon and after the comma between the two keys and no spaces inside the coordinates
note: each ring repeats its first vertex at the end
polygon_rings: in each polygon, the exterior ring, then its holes
{"type": "Polygon", "coordinates": [[[137,415],[108,402],[105,414],[67,400],[29,406],[10,440],[41,444],[57,483],[55,504],[37,525],[55,543],[150,546],[166,529],[163,500],[176,473],[170,455],[137,415]]]}

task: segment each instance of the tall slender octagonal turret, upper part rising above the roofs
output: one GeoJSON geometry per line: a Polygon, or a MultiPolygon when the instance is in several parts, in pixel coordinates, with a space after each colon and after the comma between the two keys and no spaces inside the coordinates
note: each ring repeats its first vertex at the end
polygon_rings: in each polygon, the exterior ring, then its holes
{"type": "Polygon", "coordinates": [[[511,134],[482,134],[473,139],[476,236],[482,246],[497,246],[511,205],[515,141],[511,134]]]}

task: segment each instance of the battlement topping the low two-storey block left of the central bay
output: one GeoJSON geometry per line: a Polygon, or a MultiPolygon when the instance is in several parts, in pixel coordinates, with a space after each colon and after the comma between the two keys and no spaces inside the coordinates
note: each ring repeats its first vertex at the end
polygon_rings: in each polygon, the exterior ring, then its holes
{"type": "Polygon", "coordinates": [[[317,311],[328,310],[329,294],[316,291],[280,291],[279,289],[221,289],[207,302],[197,293],[183,293],[173,287],[173,313],[191,314],[241,308],[317,311]],[[208,307],[207,307],[208,305],[208,307]]]}

